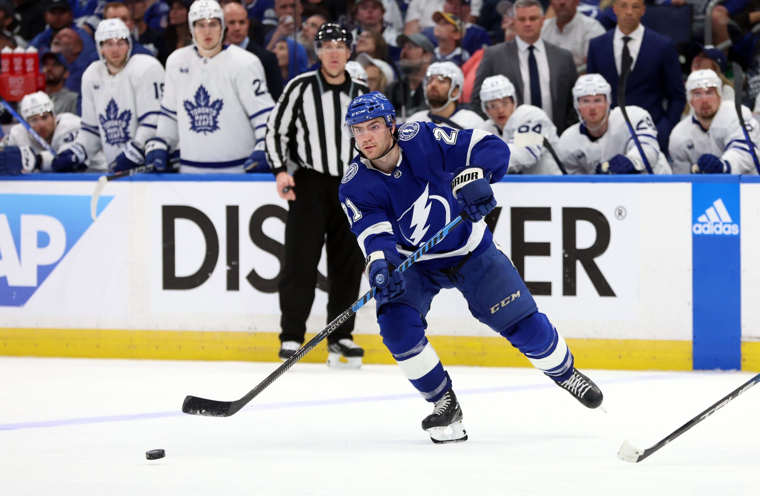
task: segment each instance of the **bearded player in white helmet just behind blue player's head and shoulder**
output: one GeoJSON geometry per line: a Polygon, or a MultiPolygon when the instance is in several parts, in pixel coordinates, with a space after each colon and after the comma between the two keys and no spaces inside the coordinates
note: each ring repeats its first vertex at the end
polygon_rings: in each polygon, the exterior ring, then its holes
{"type": "Polygon", "coordinates": [[[408,122],[435,122],[454,129],[473,129],[483,118],[458,103],[464,74],[454,62],[433,62],[425,74],[425,103],[429,110],[415,112],[408,122]]]}

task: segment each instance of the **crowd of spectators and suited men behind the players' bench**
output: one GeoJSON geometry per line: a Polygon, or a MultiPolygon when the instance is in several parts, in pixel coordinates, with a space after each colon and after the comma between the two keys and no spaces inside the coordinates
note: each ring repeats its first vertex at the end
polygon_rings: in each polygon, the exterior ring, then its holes
{"type": "MultiPolygon", "coordinates": [[[[742,103],[760,109],[754,30],[760,0],[724,0],[714,7],[707,0],[516,3],[518,8],[509,0],[220,0],[224,42],[261,60],[275,101],[288,81],[318,69],[315,33],[336,22],[353,35],[351,60],[362,69],[360,77],[369,90],[388,96],[399,122],[429,111],[426,85],[436,62],[454,64],[462,75],[461,85],[448,79],[451,98],[442,100],[447,110],[438,112],[443,118],[466,109],[485,121],[480,90],[487,78],[501,74],[515,87],[516,105],[543,109],[562,134],[578,122],[573,87],[579,74],[600,74],[612,88],[614,108],[622,58],[630,57],[626,104],[648,112],[666,154],[671,131],[694,112],[685,90],[692,71],[714,71],[722,81],[720,96],[733,100],[730,62],[737,62],[747,80],[742,103]],[[663,22],[674,12],[691,21],[689,39],[670,36],[683,28],[663,22]]],[[[99,60],[93,33],[101,20],[124,21],[131,53],[165,65],[174,50],[192,45],[191,5],[192,0],[0,0],[0,49],[35,47],[55,112],[79,114],[82,75],[99,60]]],[[[0,121],[11,118],[4,114],[0,121]]]]}

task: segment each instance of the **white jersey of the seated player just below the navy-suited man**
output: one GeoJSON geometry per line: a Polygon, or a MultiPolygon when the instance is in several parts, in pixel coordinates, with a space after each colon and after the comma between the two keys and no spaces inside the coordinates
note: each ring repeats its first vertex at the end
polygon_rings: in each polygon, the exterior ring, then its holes
{"type": "MultiPolygon", "coordinates": [[[[649,112],[637,106],[625,106],[625,111],[631,119],[644,156],[647,157],[652,172],[655,174],[670,174],[670,165],[657,143],[657,128],[654,127],[649,112]]],[[[635,165],[636,169],[646,172],[641,153],[632,140],[631,131],[625,124],[619,107],[612,109],[607,118],[607,131],[597,139],[591,137],[580,122],[565,129],[559,137],[559,147],[556,148],[559,160],[565,165],[568,174],[594,174],[597,166],[608,162],[613,156],[625,155],[635,165]]]]}

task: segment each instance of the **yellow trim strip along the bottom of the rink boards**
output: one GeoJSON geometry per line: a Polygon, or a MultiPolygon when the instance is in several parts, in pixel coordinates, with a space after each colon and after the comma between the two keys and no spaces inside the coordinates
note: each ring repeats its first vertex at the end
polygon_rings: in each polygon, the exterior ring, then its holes
{"type": "MultiPolygon", "coordinates": [[[[309,340],[314,335],[307,335],[309,340]]],[[[357,334],[364,363],[394,363],[378,335],[357,334]]],[[[530,367],[502,337],[429,336],[445,365],[530,367]]],[[[568,339],[578,368],[692,370],[691,341],[568,339]]],[[[752,353],[746,365],[760,369],[760,343],[744,343],[752,353]]],[[[277,362],[277,333],[184,330],[99,330],[0,328],[0,355],[71,358],[230,360],[277,362]]],[[[325,362],[320,344],[303,362],[325,362]]],[[[746,370],[746,368],[745,368],[746,370]]]]}

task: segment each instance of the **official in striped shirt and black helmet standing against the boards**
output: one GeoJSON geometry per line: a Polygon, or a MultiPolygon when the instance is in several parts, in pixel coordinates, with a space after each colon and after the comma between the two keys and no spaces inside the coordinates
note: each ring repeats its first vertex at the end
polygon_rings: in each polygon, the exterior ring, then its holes
{"type": "MultiPolygon", "coordinates": [[[[314,37],[320,66],[294,77],[267,122],[267,160],[277,194],[289,205],[280,290],[280,359],[301,347],[314,302],[317,264],[327,242],[328,322],[359,297],[363,255],[350,231],[337,190],[356,154],[343,131],[348,104],[369,89],[346,71],[351,35],[340,24],[323,24],[314,37]],[[293,175],[287,169],[295,169],[293,175]],[[286,191],[287,188],[287,191],[286,191]]],[[[364,350],[353,343],[354,318],[328,336],[328,365],[361,366],[364,350]]]]}

